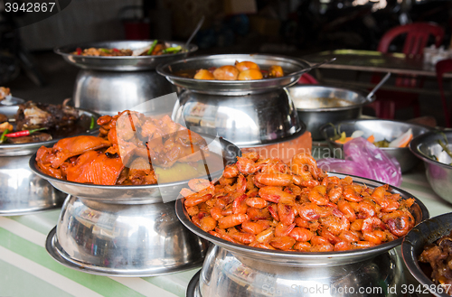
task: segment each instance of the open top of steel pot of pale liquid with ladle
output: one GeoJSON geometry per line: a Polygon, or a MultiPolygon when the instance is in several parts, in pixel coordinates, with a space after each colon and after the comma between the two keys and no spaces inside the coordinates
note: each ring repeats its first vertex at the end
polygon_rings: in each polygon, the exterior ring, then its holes
{"type": "Polygon", "coordinates": [[[287,88],[297,111],[327,112],[363,107],[375,96],[366,97],[363,91],[318,85],[297,85],[287,88]]]}

